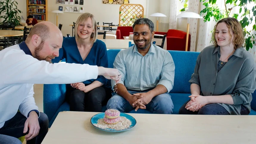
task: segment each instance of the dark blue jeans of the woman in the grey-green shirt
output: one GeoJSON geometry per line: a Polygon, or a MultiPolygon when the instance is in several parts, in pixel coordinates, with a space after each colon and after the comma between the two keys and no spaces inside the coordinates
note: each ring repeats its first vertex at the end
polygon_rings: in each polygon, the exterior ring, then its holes
{"type": "MultiPolygon", "coordinates": [[[[183,106],[179,109],[179,114],[181,115],[230,115],[230,113],[219,104],[207,104],[202,107],[199,111],[193,112],[189,109],[185,109],[186,104],[190,101],[190,99],[183,104],[183,106]]],[[[241,115],[249,115],[249,110],[241,105],[241,115]]]]}

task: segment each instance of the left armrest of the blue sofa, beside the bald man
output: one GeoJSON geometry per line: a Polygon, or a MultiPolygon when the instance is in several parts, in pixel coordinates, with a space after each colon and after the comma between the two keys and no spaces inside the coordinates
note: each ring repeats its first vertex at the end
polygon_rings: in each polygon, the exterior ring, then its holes
{"type": "Polygon", "coordinates": [[[65,101],[65,84],[44,84],[43,85],[43,112],[48,116],[49,121],[65,101]]]}

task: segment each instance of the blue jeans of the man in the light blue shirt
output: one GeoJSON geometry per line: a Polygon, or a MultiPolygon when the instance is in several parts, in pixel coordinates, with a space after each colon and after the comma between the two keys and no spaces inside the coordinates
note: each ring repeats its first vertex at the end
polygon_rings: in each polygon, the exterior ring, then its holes
{"type": "MultiPolygon", "coordinates": [[[[147,91],[138,92],[128,90],[130,94],[134,93],[146,93],[147,91]]],[[[152,100],[146,105],[146,110],[152,112],[153,114],[171,114],[173,109],[173,103],[171,96],[168,93],[163,93],[152,98],[152,100]]],[[[117,109],[120,112],[129,112],[133,109],[130,103],[123,97],[115,94],[107,102],[107,109],[117,109]]]]}

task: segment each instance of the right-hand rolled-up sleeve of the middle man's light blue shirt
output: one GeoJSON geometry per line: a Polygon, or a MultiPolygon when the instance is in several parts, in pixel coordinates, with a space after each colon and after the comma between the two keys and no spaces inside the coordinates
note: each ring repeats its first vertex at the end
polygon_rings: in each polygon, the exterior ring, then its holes
{"type": "Polygon", "coordinates": [[[174,70],[175,70],[175,65],[174,65],[173,59],[171,57],[171,54],[169,52],[166,52],[161,75],[160,75],[161,79],[158,82],[158,84],[162,84],[163,86],[165,86],[168,93],[173,88],[174,74],[175,74],[174,70]]]}

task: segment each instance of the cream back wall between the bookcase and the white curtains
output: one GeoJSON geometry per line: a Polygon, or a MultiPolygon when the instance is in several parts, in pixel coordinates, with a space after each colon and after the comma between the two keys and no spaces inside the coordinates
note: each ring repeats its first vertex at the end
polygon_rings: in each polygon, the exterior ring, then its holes
{"type": "MultiPolygon", "coordinates": [[[[144,15],[146,14],[146,0],[130,0],[130,4],[141,4],[144,7],[144,15]]],[[[58,10],[59,6],[63,6],[63,10],[65,10],[65,6],[68,5],[57,5],[56,0],[48,0],[48,21],[54,24],[56,24],[56,13],[51,13],[51,11],[58,10]]],[[[119,24],[120,6],[120,4],[102,4],[102,0],[84,0],[83,11],[92,13],[99,25],[102,25],[102,22],[119,24]]],[[[64,12],[58,14],[58,24],[63,24],[61,31],[64,36],[72,35],[72,27],[69,25],[76,22],[79,15],[81,13],[64,12]]],[[[102,30],[102,27],[100,29],[102,30]]]]}

